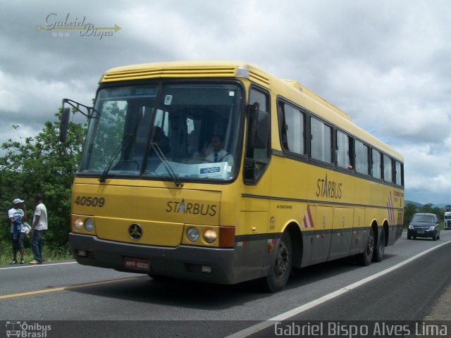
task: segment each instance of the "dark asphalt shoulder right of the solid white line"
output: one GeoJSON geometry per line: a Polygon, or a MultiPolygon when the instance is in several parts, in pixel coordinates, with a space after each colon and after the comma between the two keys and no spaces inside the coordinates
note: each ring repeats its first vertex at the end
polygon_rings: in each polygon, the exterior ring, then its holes
{"type": "MultiPolygon", "coordinates": [[[[314,306],[308,311],[286,318],[285,321],[274,320],[264,330],[247,337],[276,337],[276,323],[278,327],[290,327],[293,324],[318,327],[322,323],[323,334],[328,331],[328,327],[330,332],[335,333],[338,332],[338,327],[346,325],[355,325],[357,329],[362,326],[370,327],[369,332],[374,332],[375,323],[379,328],[381,325],[399,325],[403,327],[400,331],[401,336],[408,330],[409,334],[404,336],[434,338],[440,337],[440,334],[436,334],[437,332],[433,335],[423,334],[422,326],[447,325],[447,332],[443,337],[451,337],[451,323],[446,321],[451,308],[440,306],[441,303],[450,301],[451,294],[448,290],[451,285],[451,269],[448,268],[450,252],[449,245],[441,246],[412,263],[314,306]],[[443,312],[437,311],[438,308],[443,312]],[[432,322],[429,322],[431,320],[432,322]],[[418,332],[415,332],[416,330],[418,332]]],[[[386,334],[383,337],[395,335],[386,334]]],[[[352,337],[379,336],[357,330],[356,335],[352,337]]]]}

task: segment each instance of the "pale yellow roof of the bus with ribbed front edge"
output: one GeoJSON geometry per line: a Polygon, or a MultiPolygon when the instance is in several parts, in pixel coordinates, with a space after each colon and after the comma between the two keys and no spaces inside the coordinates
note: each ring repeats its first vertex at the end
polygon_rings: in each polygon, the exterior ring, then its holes
{"type": "Polygon", "coordinates": [[[333,125],[350,132],[364,142],[385,151],[398,161],[402,155],[373,135],[358,127],[350,116],[294,80],[282,80],[265,70],[241,61],[175,61],[163,63],[141,63],[111,68],[101,77],[100,83],[149,78],[175,77],[244,77],[289,99],[333,125]]]}

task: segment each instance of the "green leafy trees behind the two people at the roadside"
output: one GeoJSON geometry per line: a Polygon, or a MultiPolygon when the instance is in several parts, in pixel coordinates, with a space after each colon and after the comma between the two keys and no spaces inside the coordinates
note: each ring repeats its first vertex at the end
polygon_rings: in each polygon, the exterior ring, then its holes
{"type": "MultiPolygon", "coordinates": [[[[30,217],[35,207],[34,196],[40,192],[49,211],[47,241],[63,245],[70,229],[70,194],[75,171],[80,162],[86,125],[69,123],[66,142],[59,142],[59,120],[44,123],[36,137],[25,142],[8,139],[1,144],[6,154],[0,157],[0,203],[2,210],[20,196],[27,203],[30,217]]],[[[13,125],[18,130],[18,125],[13,125]]]]}

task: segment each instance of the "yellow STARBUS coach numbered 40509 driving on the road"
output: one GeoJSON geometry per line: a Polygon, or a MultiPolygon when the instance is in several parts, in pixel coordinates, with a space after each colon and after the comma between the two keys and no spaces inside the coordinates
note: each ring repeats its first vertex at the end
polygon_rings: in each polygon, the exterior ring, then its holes
{"type": "MultiPolygon", "coordinates": [[[[381,261],[402,232],[403,159],[302,84],[242,62],[113,68],[73,182],[80,264],[282,289],[293,268],[381,261]]],[[[75,111],[73,109],[73,111],[75,111]]]]}

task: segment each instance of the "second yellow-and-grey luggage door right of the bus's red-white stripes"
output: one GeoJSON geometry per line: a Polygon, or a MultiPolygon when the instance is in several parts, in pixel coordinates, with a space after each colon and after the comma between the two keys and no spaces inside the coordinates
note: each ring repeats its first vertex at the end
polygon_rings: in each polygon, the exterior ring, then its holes
{"type": "Polygon", "coordinates": [[[350,253],[354,208],[334,208],[329,261],[350,253]]]}

